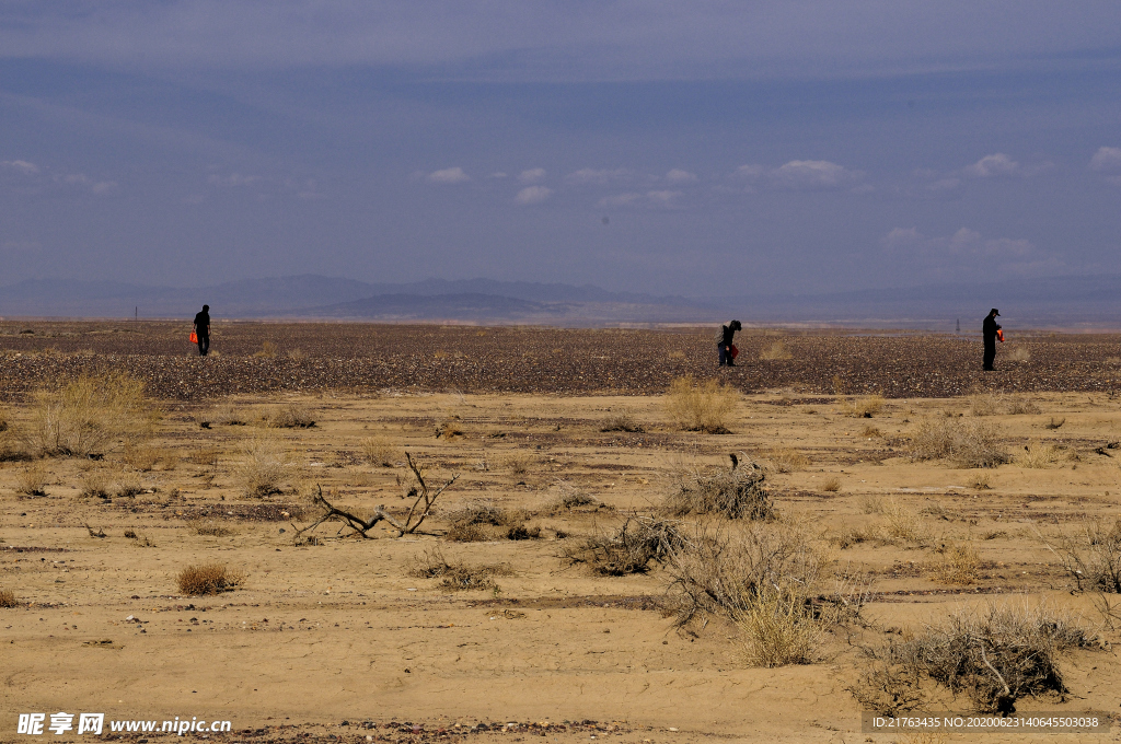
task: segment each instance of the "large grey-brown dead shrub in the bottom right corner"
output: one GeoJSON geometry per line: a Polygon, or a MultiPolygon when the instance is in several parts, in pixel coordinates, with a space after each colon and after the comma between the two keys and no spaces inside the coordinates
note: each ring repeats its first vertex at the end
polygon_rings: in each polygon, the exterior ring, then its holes
{"type": "Polygon", "coordinates": [[[955,612],[944,625],[895,645],[890,655],[910,673],[964,692],[978,710],[1007,714],[1021,697],[1064,699],[1059,653],[1094,640],[1045,604],[990,604],[955,612]]]}

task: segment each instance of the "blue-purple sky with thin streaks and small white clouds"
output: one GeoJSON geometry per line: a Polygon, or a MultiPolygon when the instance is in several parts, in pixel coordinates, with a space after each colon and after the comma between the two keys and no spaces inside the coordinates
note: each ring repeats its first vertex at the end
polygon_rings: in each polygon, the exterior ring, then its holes
{"type": "Polygon", "coordinates": [[[1119,206],[1117,2],[0,2],[0,283],[1115,273],[1119,206]]]}

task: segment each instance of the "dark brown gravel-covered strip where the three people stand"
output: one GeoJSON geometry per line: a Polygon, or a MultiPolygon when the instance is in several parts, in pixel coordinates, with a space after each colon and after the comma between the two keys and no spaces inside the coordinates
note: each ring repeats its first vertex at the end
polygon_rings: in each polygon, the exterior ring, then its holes
{"type": "Polygon", "coordinates": [[[983,375],[980,338],[966,334],[748,331],[738,337],[738,368],[722,370],[713,328],[219,323],[207,359],[189,331],[167,322],[0,323],[0,399],[108,369],[180,400],[325,389],[650,394],[683,374],[745,391],[832,393],[840,382],[849,393],[937,398],[978,387],[1109,392],[1121,378],[1121,336],[1104,334],[1013,332],[997,372],[983,375]],[[779,359],[761,359],[768,352],[779,359]]]}

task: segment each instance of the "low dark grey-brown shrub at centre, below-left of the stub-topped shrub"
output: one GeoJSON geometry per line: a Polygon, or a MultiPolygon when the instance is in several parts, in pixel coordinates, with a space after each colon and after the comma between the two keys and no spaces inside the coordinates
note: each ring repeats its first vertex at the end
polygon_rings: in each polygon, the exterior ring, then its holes
{"type": "Polygon", "coordinates": [[[626,576],[645,574],[651,560],[665,564],[684,545],[677,522],[636,514],[610,534],[566,545],[562,557],[569,566],[583,564],[603,576],[626,576]]]}

